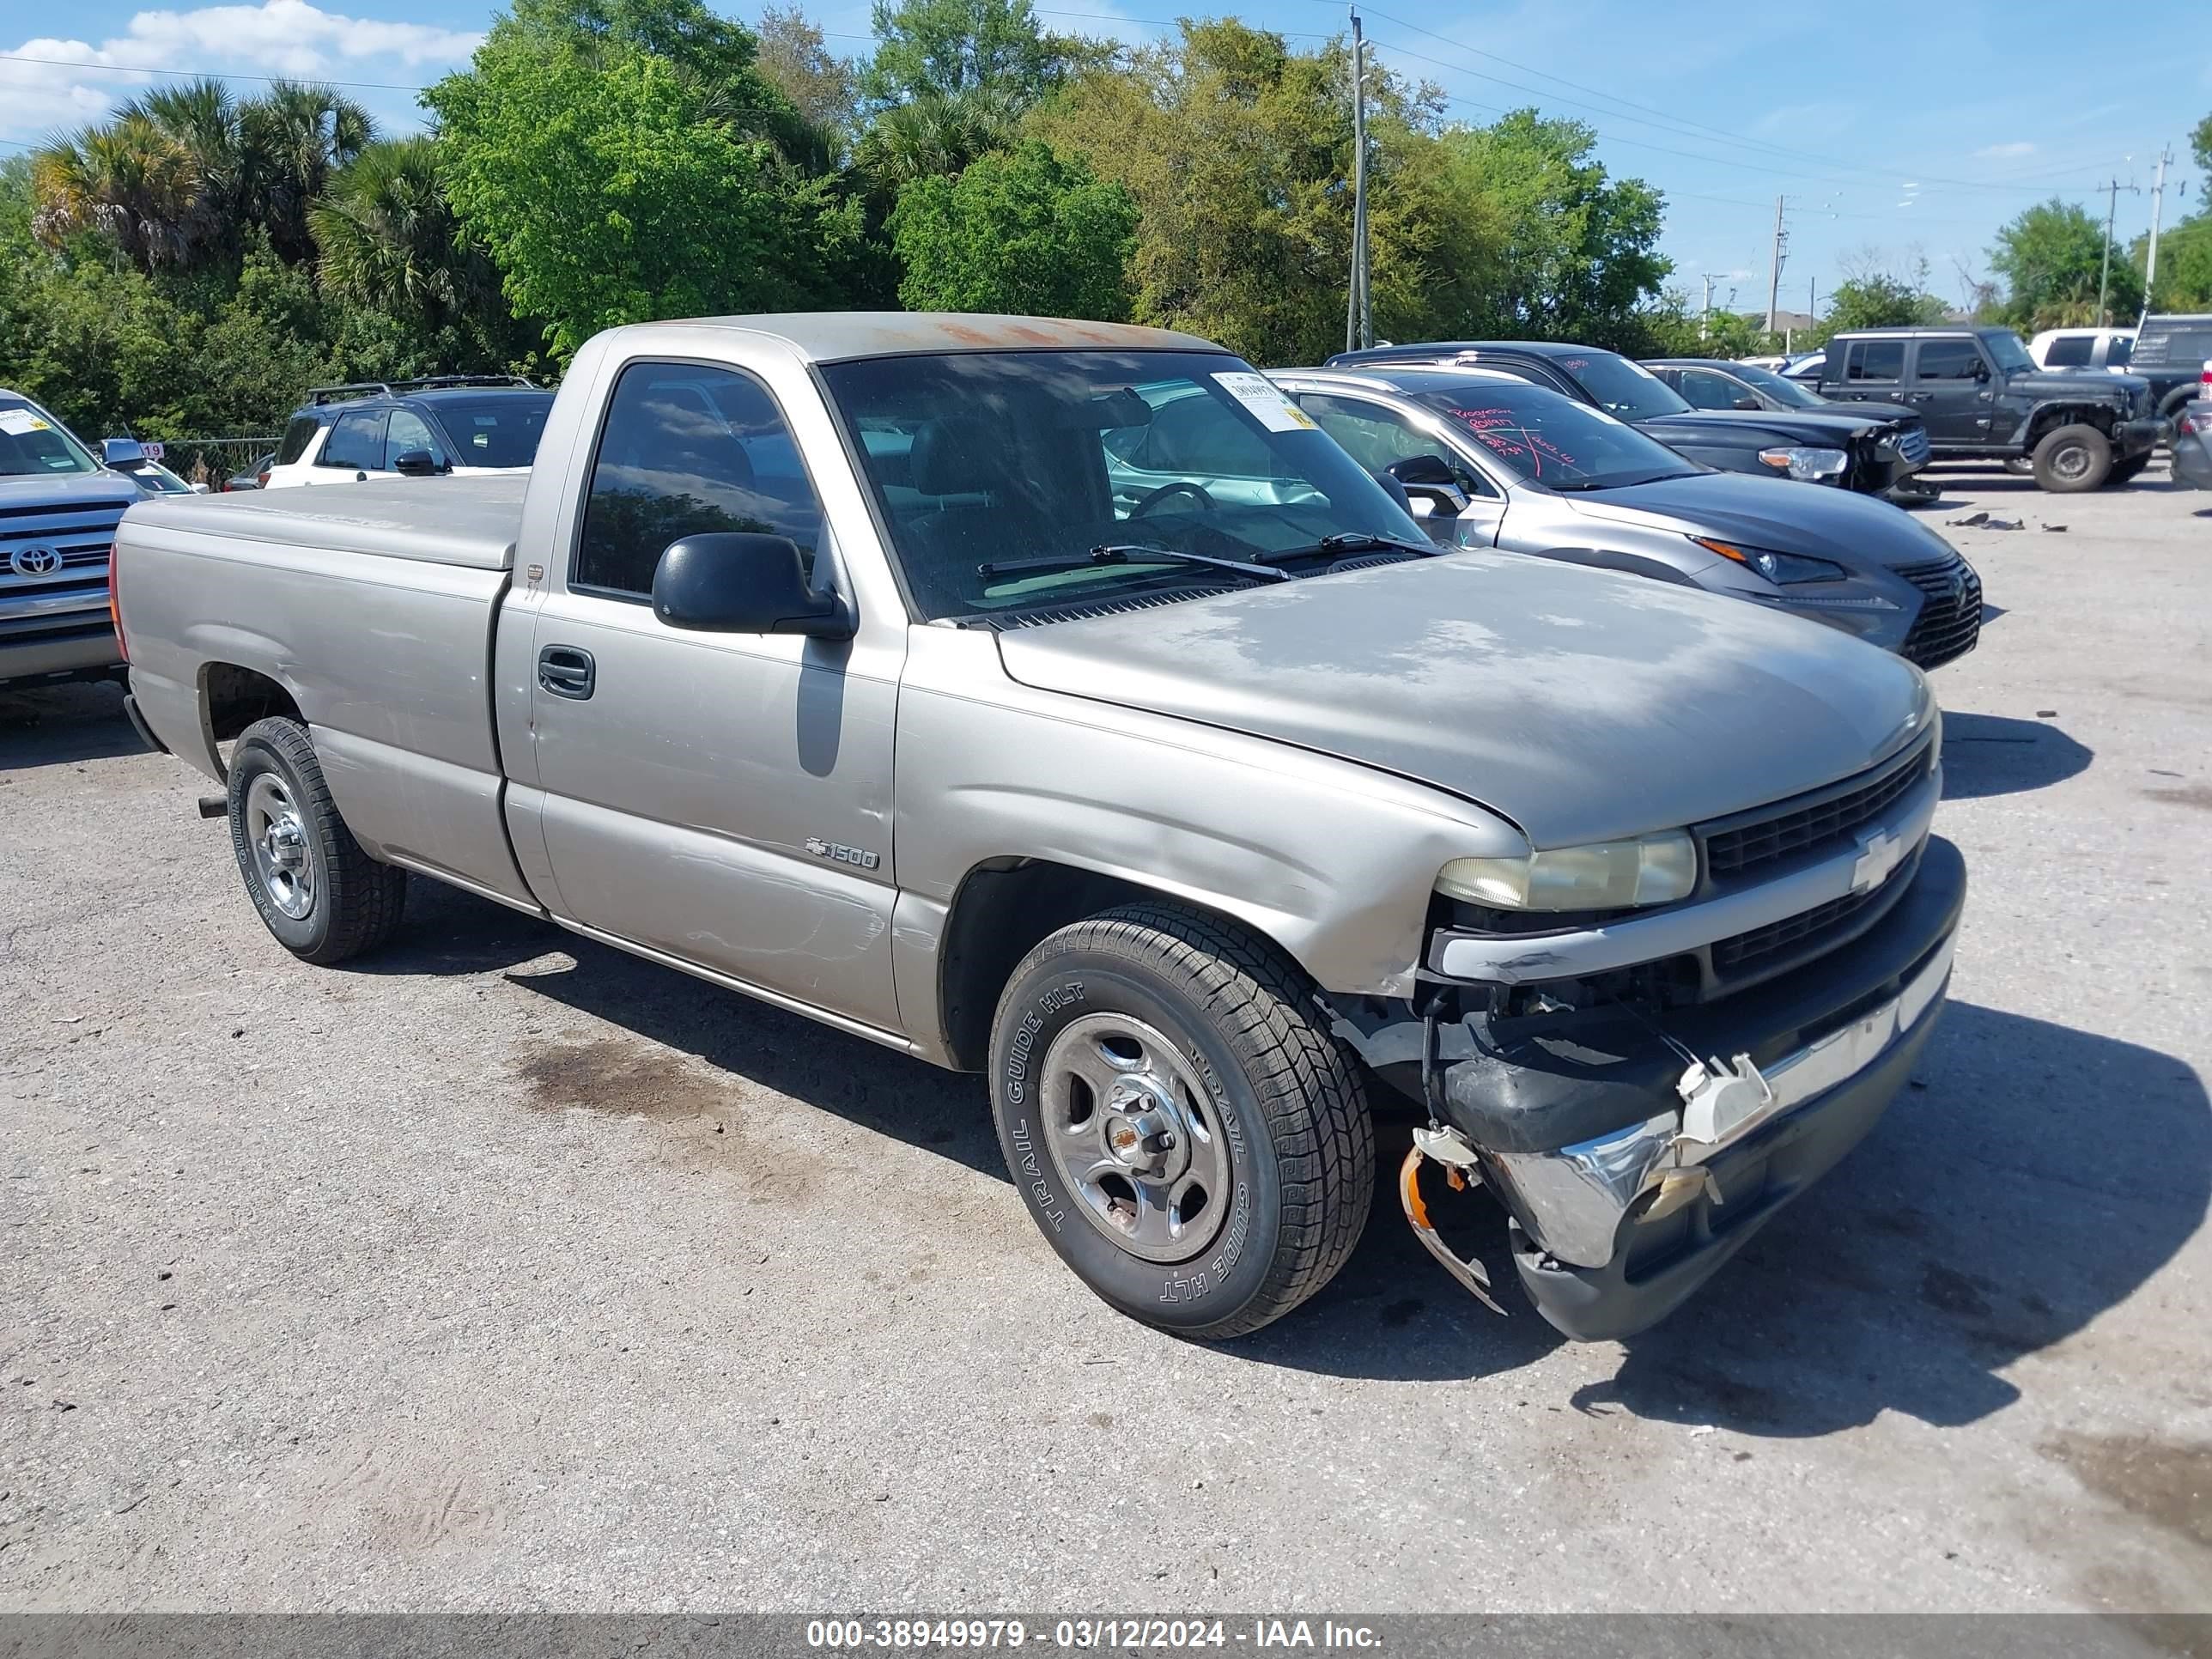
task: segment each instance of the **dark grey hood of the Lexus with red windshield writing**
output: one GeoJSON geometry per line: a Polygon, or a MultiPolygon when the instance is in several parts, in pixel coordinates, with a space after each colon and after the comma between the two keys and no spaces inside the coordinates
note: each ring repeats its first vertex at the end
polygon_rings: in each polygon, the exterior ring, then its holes
{"type": "Polygon", "coordinates": [[[1606,524],[1712,535],[1772,553],[1805,553],[1847,568],[1927,564],[1951,544],[1902,507],[1849,489],[1792,484],[1750,473],[1688,473],[1595,495],[1559,495],[1606,524]]]}

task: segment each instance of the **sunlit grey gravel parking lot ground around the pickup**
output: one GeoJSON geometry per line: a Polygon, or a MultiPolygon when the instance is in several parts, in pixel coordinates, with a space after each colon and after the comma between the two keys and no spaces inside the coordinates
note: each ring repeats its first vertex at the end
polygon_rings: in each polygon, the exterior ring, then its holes
{"type": "Polygon", "coordinates": [[[0,1606],[2212,1608],[2212,498],[1947,482],[1944,1026],[1590,1347],[1387,1186],[1152,1334],[980,1079],[422,883],[303,967],[113,688],[0,695],[0,1606]]]}

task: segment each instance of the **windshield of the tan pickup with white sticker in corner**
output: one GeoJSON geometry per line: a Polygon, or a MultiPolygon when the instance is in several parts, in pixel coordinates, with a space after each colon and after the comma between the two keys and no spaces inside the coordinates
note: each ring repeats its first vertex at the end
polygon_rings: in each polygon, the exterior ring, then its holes
{"type": "Polygon", "coordinates": [[[832,363],[823,380],[922,617],[1248,580],[1175,553],[1327,560],[1329,535],[1427,546],[1352,456],[1225,352],[956,352],[832,363]],[[1121,553],[1091,560],[1108,546],[1121,553]]]}

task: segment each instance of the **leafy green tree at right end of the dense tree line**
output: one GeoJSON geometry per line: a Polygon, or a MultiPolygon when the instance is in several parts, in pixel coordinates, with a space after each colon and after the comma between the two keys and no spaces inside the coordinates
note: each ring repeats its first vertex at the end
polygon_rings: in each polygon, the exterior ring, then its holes
{"type": "Polygon", "coordinates": [[[1502,246],[1482,296],[1484,334],[1639,349],[1639,312],[1672,263],[1659,252],[1663,197],[1613,179],[1582,122],[1513,111],[1444,135],[1453,195],[1489,204],[1502,246]]]}

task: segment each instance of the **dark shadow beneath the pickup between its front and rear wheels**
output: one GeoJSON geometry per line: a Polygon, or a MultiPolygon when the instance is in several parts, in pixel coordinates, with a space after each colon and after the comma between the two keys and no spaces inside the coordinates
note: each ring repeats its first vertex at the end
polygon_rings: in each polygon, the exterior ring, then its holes
{"type": "MultiPolygon", "coordinates": [[[[860,1128],[922,1146],[991,1179],[1006,1179],[980,1077],[940,1071],[442,883],[409,883],[407,925],[398,940],[347,967],[363,973],[502,973],[509,984],[564,1009],[695,1055],[860,1128]],[[573,967],[540,962],[555,951],[573,958],[573,967]]],[[[586,1075],[562,1079],[562,1093],[588,1095],[588,1073],[604,1064],[604,1057],[577,1055],[586,1075]]],[[[622,1086],[628,1079],[613,1082],[622,1086]]]]}

